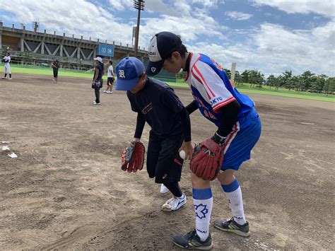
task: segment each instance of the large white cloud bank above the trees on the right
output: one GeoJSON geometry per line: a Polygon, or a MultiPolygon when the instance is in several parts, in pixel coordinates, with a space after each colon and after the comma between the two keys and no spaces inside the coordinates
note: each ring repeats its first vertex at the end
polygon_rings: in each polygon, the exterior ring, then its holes
{"type": "Polygon", "coordinates": [[[231,62],[237,62],[238,71],[259,69],[269,75],[292,70],[298,75],[310,70],[334,76],[334,22],[308,31],[286,30],[281,25],[264,23],[249,38],[249,43],[244,44],[199,42],[190,48],[208,54],[228,69],[231,62]]]}

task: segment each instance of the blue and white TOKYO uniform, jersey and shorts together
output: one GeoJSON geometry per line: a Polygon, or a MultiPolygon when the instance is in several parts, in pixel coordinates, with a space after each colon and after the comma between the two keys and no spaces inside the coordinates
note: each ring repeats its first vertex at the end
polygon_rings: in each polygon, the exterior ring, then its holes
{"type": "Polygon", "coordinates": [[[186,81],[191,88],[196,105],[206,119],[217,127],[221,125],[220,108],[237,100],[240,112],[237,122],[225,140],[221,169],[237,170],[250,158],[250,152],[261,134],[261,122],[254,110],[254,102],[237,91],[222,67],[204,54],[191,53],[186,81]]]}

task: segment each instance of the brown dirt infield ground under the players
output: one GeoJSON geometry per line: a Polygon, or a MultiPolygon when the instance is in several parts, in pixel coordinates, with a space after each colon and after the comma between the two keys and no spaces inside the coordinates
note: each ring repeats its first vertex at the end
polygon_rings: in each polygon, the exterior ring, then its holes
{"type": "MultiPolygon", "coordinates": [[[[185,105],[192,100],[188,90],[176,93],[185,105]]],[[[237,172],[250,237],[211,226],[214,249],[333,249],[334,103],[250,97],[263,125],[237,172]]],[[[0,147],[1,250],[176,250],[172,235],[194,227],[189,163],[181,181],[187,204],[160,211],[171,195],[161,195],[145,169],[120,170],[136,122],[125,93],[102,93],[100,106],[93,100],[89,79],[0,79],[0,146],[11,148],[0,147]]],[[[215,132],[199,112],[191,119],[194,142],[215,132]]],[[[148,125],[142,139],[147,145],[148,125]]],[[[218,182],[212,189],[212,221],[230,218],[218,182]]]]}

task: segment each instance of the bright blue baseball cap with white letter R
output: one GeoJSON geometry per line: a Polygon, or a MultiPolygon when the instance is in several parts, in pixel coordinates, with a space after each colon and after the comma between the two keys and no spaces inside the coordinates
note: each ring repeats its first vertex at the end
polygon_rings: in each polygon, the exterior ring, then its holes
{"type": "Polygon", "coordinates": [[[144,64],[136,57],[125,57],[117,64],[117,83],[115,90],[130,91],[139,82],[140,76],[144,73],[144,64]]]}

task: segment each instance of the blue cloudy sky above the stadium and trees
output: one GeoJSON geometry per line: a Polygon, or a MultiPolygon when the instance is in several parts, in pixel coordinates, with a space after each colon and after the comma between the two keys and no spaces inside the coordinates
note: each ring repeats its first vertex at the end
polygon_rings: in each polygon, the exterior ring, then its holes
{"type": "MultiPolygon", "coordinates": [[[[133,0],[0,0],[5,26],[84,35],[131,45],[133,0]]],[[[160,31],[224,68],[265,76],[304,71],[335,76],[335,0],[145,0],[139,46],[160,31]]]]}

